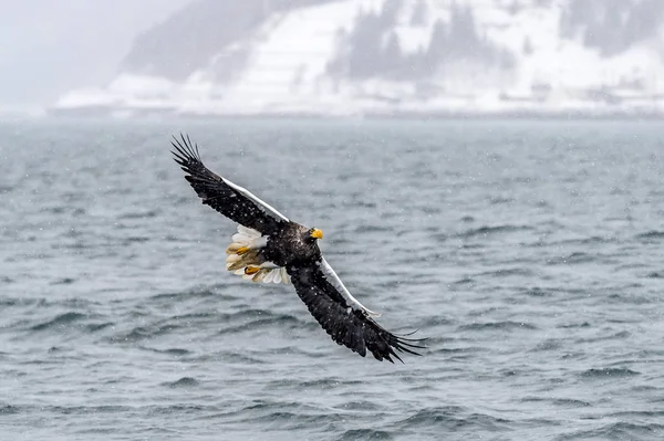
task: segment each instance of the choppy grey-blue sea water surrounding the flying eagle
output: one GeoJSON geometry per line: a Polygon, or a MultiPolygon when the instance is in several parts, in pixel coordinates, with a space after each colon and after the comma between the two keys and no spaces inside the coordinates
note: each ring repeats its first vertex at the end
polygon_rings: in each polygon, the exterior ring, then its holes
{"type": "Polygon", "coordinates": [[[1,440],[664,439],[662,123],[3,123],[0,219],[1,440]],[[180,130],[423,356],[227,272],[180,130]]]}

